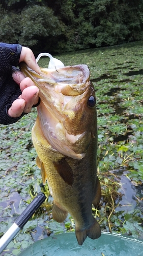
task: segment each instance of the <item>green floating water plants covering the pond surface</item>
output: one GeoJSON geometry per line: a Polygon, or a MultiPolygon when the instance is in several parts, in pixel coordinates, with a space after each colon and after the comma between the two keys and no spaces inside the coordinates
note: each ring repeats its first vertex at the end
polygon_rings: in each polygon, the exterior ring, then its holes
{"type": "MultiPolygon", "coordinates": [[[[143,182],[143,46],[142,42],[54,56],[65,65],[86,63],[91,70],[98,112],[98,176],[102,199],[93,208],[102,231],[142,237],[143,182]]],[[[47,67],[48,58],[39,61],[47,67]]],[[[50,234],[74,230],[68,216],[64,224],[52,220],[47,185],[42,185],[31,129],[36,110],[19,122],[1,125],[0,234],[12,225],[40,190],[46,201],[9,244],[7,255],[50,234]]],[[[2,254],[2,255],[4,255],[2,254]]]]}

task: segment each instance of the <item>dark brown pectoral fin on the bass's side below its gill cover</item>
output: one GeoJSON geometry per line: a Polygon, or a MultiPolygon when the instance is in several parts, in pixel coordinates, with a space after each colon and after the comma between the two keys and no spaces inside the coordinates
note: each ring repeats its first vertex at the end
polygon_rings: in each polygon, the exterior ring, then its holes
{"type": "Polygon", "coordinates": [[[61,176],[61,178],[70,186],[73,184],[73,172],[70,165],[67,163],[65,158],[62,158],[58,162],[53,162],[55,169],[61,176]]]}

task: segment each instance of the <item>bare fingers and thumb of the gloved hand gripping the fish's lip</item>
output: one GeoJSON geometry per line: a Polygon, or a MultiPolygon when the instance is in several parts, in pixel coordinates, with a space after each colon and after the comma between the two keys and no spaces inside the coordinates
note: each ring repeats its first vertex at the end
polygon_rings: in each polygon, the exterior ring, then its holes
{"type": "MultiPolygon", "coordinates": [[[[24,61],[28,67],[40,73],[40,68],[36,63],[31,49],[22,47],[19,62],[24,61]]],[[[34,82],[30,78],[25,78],[20,72],[14,72],[12,74],[14,81],[20,86],[22,94],[13,101],[11,108],[8,110],[8,115],[13,118],[20,117],[21,114],[29,113],[33,105],[39,102],[39,89],[35,86],[34,82]]]]}

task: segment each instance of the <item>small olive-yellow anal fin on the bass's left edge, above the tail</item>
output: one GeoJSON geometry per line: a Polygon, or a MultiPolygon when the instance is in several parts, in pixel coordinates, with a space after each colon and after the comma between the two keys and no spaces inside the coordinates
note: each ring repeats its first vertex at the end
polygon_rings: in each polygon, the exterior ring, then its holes
{"type": "Polygon", "coordinates": [[[58,206],[55,202],[52,206],[52,218],[62,223],[68,216],[68,212],[66,210],[63,210],[60,206],[58,206]]]}

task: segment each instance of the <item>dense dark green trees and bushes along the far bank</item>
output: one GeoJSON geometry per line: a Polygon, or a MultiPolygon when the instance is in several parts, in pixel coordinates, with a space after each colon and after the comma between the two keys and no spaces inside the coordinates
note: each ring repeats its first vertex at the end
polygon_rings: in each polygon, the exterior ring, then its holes
{"type": "Polygon", "coordinates": [[[142,0],[0,0],[0,40],[67,52],[143,38],[142,0]]]}

